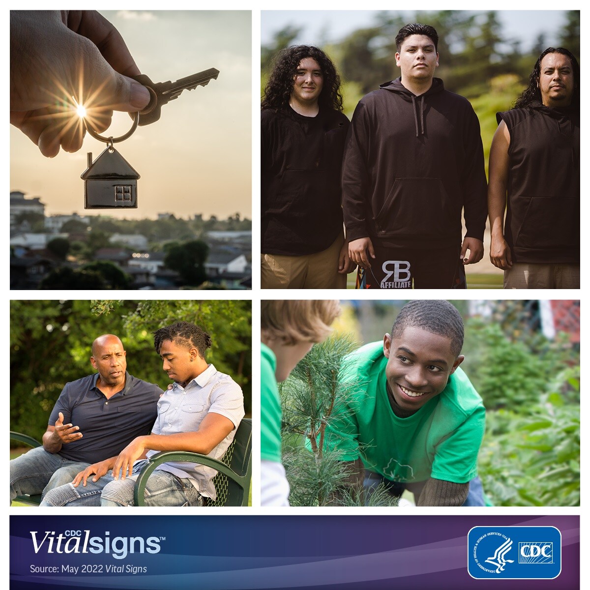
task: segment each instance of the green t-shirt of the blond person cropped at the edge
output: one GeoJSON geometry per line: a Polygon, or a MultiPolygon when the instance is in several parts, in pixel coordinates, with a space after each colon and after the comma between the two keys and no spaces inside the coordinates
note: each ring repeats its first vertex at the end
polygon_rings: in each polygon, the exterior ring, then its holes
{"type": "Polygon", "coordinates": [[[281,462],[281,402],[274,371],[277,359],[260,343],[260,458],[281,462]]]}

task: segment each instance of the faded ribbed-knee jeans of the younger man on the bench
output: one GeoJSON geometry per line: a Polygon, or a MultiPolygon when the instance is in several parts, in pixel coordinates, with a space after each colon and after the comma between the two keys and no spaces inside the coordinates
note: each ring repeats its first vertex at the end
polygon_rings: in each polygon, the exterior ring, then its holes
{"type": "MultiPolygon", "coordinates": [[[[148,463],[143,459],[133,464],[133,475],[124,480],[114,480],[109,471],[98,481],[86,480],[86,487],[79,484],[49,490],[41,506],[133,506],[133,489],[139,472],[148,463]]],[[[145,491],[146,506],[202,506],[203,497],[188,478],[174,476],[168,471],[156,469],[148,478],[145,491]]]]}

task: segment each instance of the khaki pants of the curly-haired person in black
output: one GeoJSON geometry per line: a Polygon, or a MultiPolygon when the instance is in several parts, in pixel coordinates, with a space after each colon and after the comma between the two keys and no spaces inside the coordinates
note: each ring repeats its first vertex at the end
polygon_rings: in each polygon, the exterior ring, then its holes
{"type": "Polygon", "coordinates": [[[322,252],[303,256],[260,255],[263,289],[346,289],[346,274],[338,273],[344,235],[322,252]]]}

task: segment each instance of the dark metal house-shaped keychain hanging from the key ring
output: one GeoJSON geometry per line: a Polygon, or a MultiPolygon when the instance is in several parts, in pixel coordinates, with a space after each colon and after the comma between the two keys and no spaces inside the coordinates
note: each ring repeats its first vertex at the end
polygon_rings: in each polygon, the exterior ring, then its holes
{"type": "Polygon", "coordinates": [[[84,209],[137,208],[137,179],[139,174],[109,146],[92,161],[88,153],[88,168],[82,173],[84,209]]]}

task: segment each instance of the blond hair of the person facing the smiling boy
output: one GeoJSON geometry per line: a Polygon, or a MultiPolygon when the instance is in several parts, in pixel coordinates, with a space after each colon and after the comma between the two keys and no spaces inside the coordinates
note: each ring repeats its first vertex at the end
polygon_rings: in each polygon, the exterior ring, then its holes
{"type": "Polygon", "coordinates": [[[260,327],[264,337],[297,342],[321,342],[340,314],[336,300],[273,300],[260,302],[260,327]]]}

